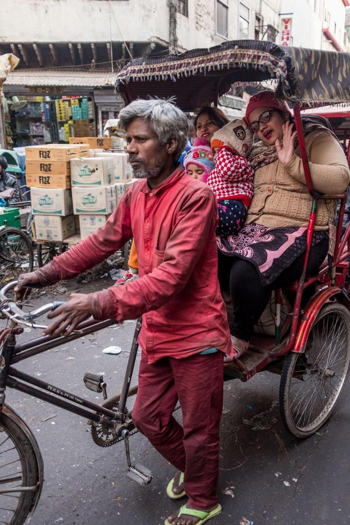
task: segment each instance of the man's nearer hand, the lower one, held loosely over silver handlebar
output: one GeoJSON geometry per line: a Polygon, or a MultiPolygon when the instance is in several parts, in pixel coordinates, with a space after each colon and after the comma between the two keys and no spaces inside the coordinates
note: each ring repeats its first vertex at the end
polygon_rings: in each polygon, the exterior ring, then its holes
{"type": "MultiPolygon", "coordinates": [[[[28,274],[30,275],[30,274],[28,274]]],[[[48,319],[57,319],[43,332],[43,335],[69,335],[79,323],[91,316],[91,305],[86,293],[71,293],[69,300],[48,314],[48,319]]]]}

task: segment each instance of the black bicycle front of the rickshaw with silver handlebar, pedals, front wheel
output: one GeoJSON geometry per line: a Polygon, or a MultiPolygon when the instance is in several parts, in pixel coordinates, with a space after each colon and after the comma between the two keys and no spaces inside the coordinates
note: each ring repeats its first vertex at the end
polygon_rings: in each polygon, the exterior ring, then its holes
{"type": "Polygon", "coordinates": [[[130,384],[138,349],[137,337],[141,329],[141,320],[136,322],[120,394],[107,398],[107,385],[103,377],[93,373],[85,374],[84,383],[87,388],[94,392],[103,392],[105,400],[98,405],[59,386],[16,370],[13,365],[33,355],[107,328],[116,324],[116,321],[98,322],[90,319],[81,323],[77,330],[68,336],[39,337],[17,344],[16,336],[23,332],[23,326],[45,328],[36,324],[35,319],[62,304],[60,301],[55,301],[25,312],[7,297],[17,282],[9,282],[0,290],[0,314],[9,320],[7,328],[0,332],[0,523],[8,525],[22,525],[27,514],[34,511],[43,488],[44,462],[29,427],[12,408],[5,404],[7,386],[88,419],[92,438],[99,446],[108,447],[124,440],[128,477],[140,485],[149,484],[153,477],[152,472],[143,465],[131,464],[129,452],[129,435],[136,430],[132,423],[131,411],[126,407],[126,400],[137,392],[137,386],[130,388],[130,384]]]}

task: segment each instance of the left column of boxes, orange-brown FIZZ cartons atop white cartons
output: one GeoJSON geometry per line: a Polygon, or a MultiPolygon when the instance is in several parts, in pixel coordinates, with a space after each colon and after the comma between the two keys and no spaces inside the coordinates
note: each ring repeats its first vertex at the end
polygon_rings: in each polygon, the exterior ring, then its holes
{"type": "Polygon", "coordinates": [[[70,160],[89,155],[87,144],[47,144],[26,148],[26,184],[30,187],[37,240],[62,241],[76,233],[70,160]]]}

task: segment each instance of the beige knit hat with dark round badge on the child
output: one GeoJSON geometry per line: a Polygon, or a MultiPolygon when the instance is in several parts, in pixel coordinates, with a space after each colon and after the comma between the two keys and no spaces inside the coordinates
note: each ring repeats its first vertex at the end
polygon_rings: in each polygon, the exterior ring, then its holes
{"type": "Polygon", "coordinates": [[[220,148],[227,144],[238,155],[247,157],[253,144],[253,135],[244,119],[232,120],[216,131],[211,139],[211,148],[220,148]]]}

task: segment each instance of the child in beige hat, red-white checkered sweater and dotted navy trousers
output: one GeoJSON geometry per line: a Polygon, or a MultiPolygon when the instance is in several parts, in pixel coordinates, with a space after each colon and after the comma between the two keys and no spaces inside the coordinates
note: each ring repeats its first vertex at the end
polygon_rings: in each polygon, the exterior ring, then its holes
{"type": "Polygon", "coordinates": [[[229,122],[211,139],[215,167],[202,178],[218,201],[217,235],[236,235],[246,222],[253,196],[253,169],[246,157],[253,136],[243,120],[229,122]]]}

